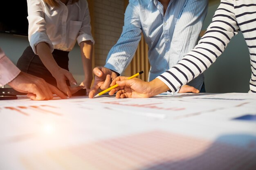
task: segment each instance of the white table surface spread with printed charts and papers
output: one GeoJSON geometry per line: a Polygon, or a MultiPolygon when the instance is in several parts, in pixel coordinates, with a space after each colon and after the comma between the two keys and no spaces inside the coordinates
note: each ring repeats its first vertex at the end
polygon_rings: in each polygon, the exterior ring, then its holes
{"type": "Polygon", "coordinates": [[[0,101],[1,170],[255,170],[256,95],[0,101]]]}

